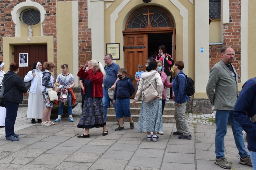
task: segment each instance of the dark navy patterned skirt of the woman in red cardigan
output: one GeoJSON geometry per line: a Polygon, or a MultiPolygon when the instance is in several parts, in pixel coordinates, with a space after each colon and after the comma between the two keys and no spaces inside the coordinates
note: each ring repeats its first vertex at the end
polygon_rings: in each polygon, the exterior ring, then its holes
{"type": "Polygon", "coordinates": [[[102,98],[85,97],[82,114],[77,128],[91,129],[106,125],[102,98]]]}

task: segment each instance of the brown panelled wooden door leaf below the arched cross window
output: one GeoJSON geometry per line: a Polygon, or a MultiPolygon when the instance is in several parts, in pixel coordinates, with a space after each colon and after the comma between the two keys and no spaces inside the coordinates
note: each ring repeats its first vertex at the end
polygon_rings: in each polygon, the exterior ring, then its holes
{"type": "MultiPolygon", "coordinates": [[[[125,35],[125,47],[145,46],[145,48],[125,49],[125,68],[127,69],[127,76],[132,81],[136,88],[137,82],[134,79],[138,71],[138,64],[142,64],[143,71],[146,69],[145,61],[147,60],[147,34],[128,34],[125,35]]],[[[134,98],[135,93],[130,97],[134,98]]]]}

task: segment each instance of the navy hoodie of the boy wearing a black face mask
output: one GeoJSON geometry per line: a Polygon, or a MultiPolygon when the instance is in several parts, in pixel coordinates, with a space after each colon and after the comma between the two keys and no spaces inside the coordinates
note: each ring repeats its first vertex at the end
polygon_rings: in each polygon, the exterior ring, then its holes
{"type": "Polygon", "coordinates": [[[135,92],[135,87],[129,77],[126,76],[123,80],[120,79],[116,82],[114,100],[118,99],[129,99],[135,92]]]}

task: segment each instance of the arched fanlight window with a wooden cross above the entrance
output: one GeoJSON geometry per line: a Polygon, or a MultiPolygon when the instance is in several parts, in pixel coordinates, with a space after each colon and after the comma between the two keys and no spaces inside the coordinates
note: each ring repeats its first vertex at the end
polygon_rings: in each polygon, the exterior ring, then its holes
{"type": "Polygon", "coordinates": [[[133,12],[128,18],[126,29],[153,29],[174,27],[171,16],[162,8],[147,6],[133,12]]]}

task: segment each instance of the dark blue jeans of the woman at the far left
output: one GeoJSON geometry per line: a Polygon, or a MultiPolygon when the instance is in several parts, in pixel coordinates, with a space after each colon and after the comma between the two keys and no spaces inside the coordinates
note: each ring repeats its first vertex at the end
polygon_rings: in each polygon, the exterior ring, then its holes
{"type": "Polygon", "coordinates": [[[3,101],[3,106],[6,108],[5,117],[5,137],[14,135],[14,124],[17,117],[19,103],[3,101]]]}

